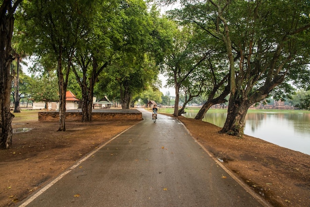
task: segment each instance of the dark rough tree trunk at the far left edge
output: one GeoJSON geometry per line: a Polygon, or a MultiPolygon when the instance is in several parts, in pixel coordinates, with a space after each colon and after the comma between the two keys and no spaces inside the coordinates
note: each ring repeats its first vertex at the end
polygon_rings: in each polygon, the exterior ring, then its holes
{"type": "Polygon", "coordinates": [[[10,92],[12,76],[10,65],[12,56],[12,35],[14,13],[22,0],[3,0],[0,5],[0,148],[7,149],[12,144],[14,115],[10,112],[10,92]]]}

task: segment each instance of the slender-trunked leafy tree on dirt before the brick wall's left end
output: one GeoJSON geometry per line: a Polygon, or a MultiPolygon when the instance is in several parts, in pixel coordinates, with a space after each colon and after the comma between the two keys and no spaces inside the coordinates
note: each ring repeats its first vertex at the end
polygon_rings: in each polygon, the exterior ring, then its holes
{"type": "MultiPolygon", "coordinates": [[[[59,128],[65,131],[65,94],[73,55],[78,40],[85,34],[84,20],[93,0],[32,0],[24,3],[22,18],[25,22],[25,38],[32,44],[38,58],[50,58],[56,62],[59,90],[59,128]],[[35,25],[35,26],[34,26],[35,25]]],[[[30,47],[27,47],[30,48],[30,47]]]]}

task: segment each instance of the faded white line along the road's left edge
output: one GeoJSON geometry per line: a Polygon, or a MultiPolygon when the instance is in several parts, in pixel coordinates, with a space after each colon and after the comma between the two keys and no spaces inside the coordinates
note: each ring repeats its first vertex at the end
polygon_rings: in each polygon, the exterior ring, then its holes
{"type": "MultiPolygon", "coordinates": [[[[139,122],[140,123],[140,122],[139,122]]],[[[138,124],[138,123],[137,123],[138,124]]],[[[135,124],[136,125],[136,124],[135,124]]],[[[132,125],[131,127],[135,126],[132,125]]],[[[96,150],[92,151],[90,154],[86,155],[84,158],[80,159],[79,161],[77,161],[73,166],[71,166],[68,170],[64,171],[63,173],[61,173],[58,177],[56,177],[54,180],[52,180],[52,182],[50,182],[49,184],[47,184],[44,188],[42,188],[41,190],[39,190],[36,194],[34,194],[33,196],[31,196],[29,199],[27,199],[25,202],[23,202],[19,207],[25,207],[28,204],[30,204],[31,202],[33,202],[36,198],[38,198],[41,194],[43,194],[46,190],[48,190],[50,187],[52,187],[53,184],[55,184],[57,181],[59,181],[61,178],[63,178],[66,174],[68,174],[69,172],[71,172],[74,168],[76,168],[79,164],[81,164],[83,161],[85,161],[87,158],[89,158],[90,156],[94,155],[95,153],[97,153],[99,150],[101,150],[105,145],[107,145],[108,143],[110,143],[112,140],[116,139],[118,136],[120,136],[121,134],[123,134],[124,132],[126,132],[127,130],[129,130],[131,127],[125,129],[124,131],[122,131],[121,133],[119,133],[118,135],[116,135],[115,137],[113,137],[112,139],[110,139],[109,141],[107,141],[106,143],[104,143],[102,146],[100,146],[99,148],[97,148],[96,150]]]]}

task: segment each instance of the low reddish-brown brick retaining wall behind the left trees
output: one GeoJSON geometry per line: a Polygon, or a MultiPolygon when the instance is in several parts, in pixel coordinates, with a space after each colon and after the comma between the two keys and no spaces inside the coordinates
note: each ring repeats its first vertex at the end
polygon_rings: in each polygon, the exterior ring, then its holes
{"type": "MultiPolygon", "coordinates": [[[[80,110],[67,110],[66,121],[81,121],[82,112],[80,110]]],[[[59,121],[58,111],[40,111],[38,112],[39,121],[59,121]]],[[[92,112],[92,121],[108,120],[142,120],[142,113],[137,109],[102,109],[92,112]]]]}

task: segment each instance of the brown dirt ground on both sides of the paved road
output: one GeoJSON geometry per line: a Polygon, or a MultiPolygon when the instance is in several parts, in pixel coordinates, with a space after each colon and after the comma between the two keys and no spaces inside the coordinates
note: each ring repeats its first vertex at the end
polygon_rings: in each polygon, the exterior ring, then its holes
{"type": "MultiPolygon", "coordinates": [[[[219,127],[179,117],[215,158],[274,207],[310,207],[310,155],[245,136],[219,134],[219,127]]],[[[159,121],[159,120],[158,120],[159,121]]],[[[58,122],[13,119],[13,146],[0,151],[0,206],[12,207],[66,168],[138,121],[58,122]]]]}

